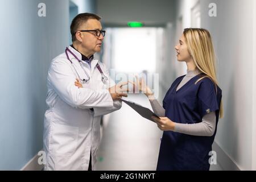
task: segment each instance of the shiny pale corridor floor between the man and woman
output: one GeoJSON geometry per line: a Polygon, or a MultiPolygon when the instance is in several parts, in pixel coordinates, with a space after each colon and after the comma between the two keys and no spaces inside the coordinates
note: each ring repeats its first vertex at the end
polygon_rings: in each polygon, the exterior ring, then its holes
{"type": "MultiPolygon", "coordinates": [[[[126,100],[136,102],[152,110],[150,102],[142,94],[130,94],[126,100]]],[[[154,171],[158,160],[162,131],[154,122],[144,119],[130,106],[104,116],[98,151],[97,170],[154,171]]],[[[222,168],[216,164],[210,170],[222,168]]]]}

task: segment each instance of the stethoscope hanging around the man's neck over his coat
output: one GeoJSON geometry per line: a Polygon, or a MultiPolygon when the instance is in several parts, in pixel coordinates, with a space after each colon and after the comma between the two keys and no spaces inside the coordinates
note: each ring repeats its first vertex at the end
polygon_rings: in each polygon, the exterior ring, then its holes
{"type": "MultiPolygon", "coordinates": [[[[79,80],[81,80],[81,81],[84,82],[84,83],[85,83],[85,82],[88,82],[88,81],[90,80],[90,76],[89,76],[88,73],[85,71],[85,69],[82,67],[81,60],[79,60],[78,57],[77,57],[69,48],[66,48],[66,49],[65,49],[65,53],[66,53],[67,59],[68,59],[68,60],[71,62],[71,64],[73,65],[73,68],[75,69],[76,74],[77,74],[77,76],[79,77],[79,80]],[[76,68],[74,67],[72,61],[69,59],[68,52],[71,53],[71,54],[77,59],[77,61],[79,61],[79,64],[80,64],[82,70],[84,70],[84,73],[85,73],[85,75],[88,77],[88,79],[85,79],[85,78],[81,79],[81,77],[79,76],[79,73],[76,71],[76,68]]],[[[102,72],[102,69],[101,69],[101,67],[100,67],[100,65],[99,65],[98,63],[96,64],[96,67],[98,68],[98,71],[101,73],[101,81],[104,82],[104,83],[107,82],[107,81],[108,81],[108,77],[106,77],[106,76],[104,75],[104,73],[102,72]]]]}

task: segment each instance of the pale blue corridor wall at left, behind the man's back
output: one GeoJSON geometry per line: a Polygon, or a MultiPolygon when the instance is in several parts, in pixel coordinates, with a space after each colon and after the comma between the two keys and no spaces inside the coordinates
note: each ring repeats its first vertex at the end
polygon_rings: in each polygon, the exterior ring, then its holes
{"type": "Polygon", "coordinates": [[[68,46],[69,1],[5,1],[0,17],[0,170],[19,170],[43,148],[48,67],[68,46]]]}

